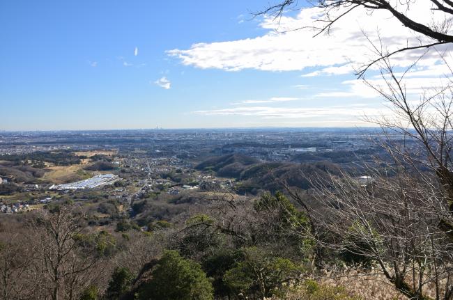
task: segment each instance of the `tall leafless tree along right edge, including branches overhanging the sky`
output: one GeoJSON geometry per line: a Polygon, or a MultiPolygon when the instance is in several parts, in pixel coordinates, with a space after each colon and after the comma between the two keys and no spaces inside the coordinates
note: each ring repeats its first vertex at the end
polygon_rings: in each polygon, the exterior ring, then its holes
{"type": "MultiPolygon", "coordinates": [[[[453,2],[429,0],[432,6],[427,13],[434,10],[440,15],[431,24],[423,24],[408,14],[420,2],[312,1],[325,11],[318,19],[322,26],[318,27],[317,35],[330,31],[337,20],[351,11],[365,8],[364,13],[370,15],[376,10],[387,11],[422,38],[418,45],[389,52],[381,37],[376,45],[364,33],[375,58],[362,65],[356,74],[387,101],[392,111],[367,118],[381,127],[382,145],[390,155],[390,161],[367,166],[374,182],[360,184],[347,174],[332,176],[330,180],[312,178],[314,195],[322,204],[316,210],[307,207],[300,195],[289,191],[305,205],[316,228],[338,238],[320,239],[313,231],[300,235],[311,234],[318,245],[377,262],[388,282],[410,299],[446,300],[453,298],[453,72],[445,53],[436,46],[453,42],[450,34],[453,2]],[[424,88],[417,97],[408,95],[406,76],[427,52],[406,70],[394,68],[391,61],[394,54],[414,49],[438,54],[438,60],[450,70],[438,78],[436,86],[424,88]],[[365,78],[371,66],[380,70],[380,81],[365,78]]],[[[261,13],[279,17],[286,8],[297,8],[297,1],[281,1],[261,13]]]]}

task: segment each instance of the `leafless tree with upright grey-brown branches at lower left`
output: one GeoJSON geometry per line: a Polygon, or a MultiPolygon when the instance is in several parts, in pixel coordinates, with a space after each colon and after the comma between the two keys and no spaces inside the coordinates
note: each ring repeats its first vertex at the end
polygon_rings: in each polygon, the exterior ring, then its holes
{"type": "Polygon", "coordinates": [[[43,294],[52,300],[77,299],[90,284],[100,259],[83,235],[84,215],[70,207],[41,212],[32,222],[43,294]]]}

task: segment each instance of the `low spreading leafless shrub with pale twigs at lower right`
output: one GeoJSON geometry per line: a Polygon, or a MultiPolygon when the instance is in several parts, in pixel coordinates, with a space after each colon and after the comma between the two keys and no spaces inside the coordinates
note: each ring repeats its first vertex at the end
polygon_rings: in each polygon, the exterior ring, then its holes
{"type": "Polygon", "coordinates": [[[314,183],[318,224],[340,237],[318,243],[376,262],[410,299],[452,299],[453,244],[438,228],[452,218],[436,177],[416,176],[402,161],[369,172],[371,184],[346,174],[314,183]]]}

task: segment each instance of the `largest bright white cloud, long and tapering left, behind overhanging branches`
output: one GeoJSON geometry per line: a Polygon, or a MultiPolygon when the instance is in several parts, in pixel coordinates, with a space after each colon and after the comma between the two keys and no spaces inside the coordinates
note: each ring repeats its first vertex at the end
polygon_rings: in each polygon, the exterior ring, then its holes
{"type": "MultiPolygon", "coordinates": [[[[424,24],[431,24],[440,13],[431,10],[429,2],[417,2],[417,6],[410,6],[408,14],[414,15],[424,24]]],[[[398,8],[405,9],[404,5],[399,5],[398,8]]],[[[337,13],[341,13],[341,10],[337,13]]],[[[318,73],[311,74],[317,76],[352,73],[352,65],[365,63],[374,58],[369,55],[371,45],[363,32],[374,42],[379,40],[380,35],[384,47],[390,52],[399,47],[420,43],[417,39],[420,37],[401,26],[390,13],[376,10],[369,14],[367,10],[360,8],[339,19],[332,27],[330,35],[321,34],[313,38],[318,31],[312,29],[291,31],[301,27],[320,26],[316,19],[322,15],[323,10],[319,8],[304,8],[296,17],[282,17],[277,20],[278,22],[270,17],[265,18],[261,22],[261,27],[269,31],[256,38],[201,42],[192,45],[190,49],[173,49],[167,53],[181,59],[184,65],[203,69],[293,71],[322,68],[318,73]]],[[[408,66],[422,53],[423,50],[399,54],[394,56],[395,63],[408,66]]],[[[436,61],[438,55],[431,53],[424,56],[420,64],[429,66],[436,61]]]]}

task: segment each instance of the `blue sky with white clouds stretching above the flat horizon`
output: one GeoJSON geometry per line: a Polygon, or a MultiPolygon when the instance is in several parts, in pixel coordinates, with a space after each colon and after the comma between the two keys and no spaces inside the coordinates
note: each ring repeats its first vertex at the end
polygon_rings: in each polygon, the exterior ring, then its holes
{"type": "Polygon", "coordinates": [[[344,47],[357,28],[324,47],[282,32],[316,12],[252,19],[267,3],[1,1],[0,130],[349,127],[381,109],[346,57],[366,51],[344,47]]]}

